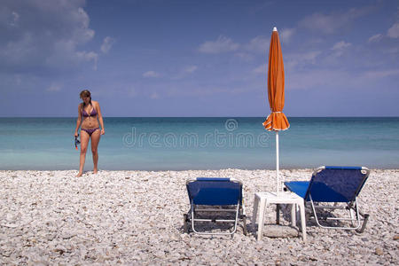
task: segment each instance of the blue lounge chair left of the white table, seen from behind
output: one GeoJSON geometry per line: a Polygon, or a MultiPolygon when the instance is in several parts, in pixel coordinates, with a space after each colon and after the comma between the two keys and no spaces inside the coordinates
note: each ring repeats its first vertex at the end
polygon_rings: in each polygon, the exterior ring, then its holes
{"type": "Polygon", "coordinates": [[[242,183],[234,178],[199,177],[186,182],[190,200],[190,210],[184,214],[184,231],[189,232],[188,223],[192,231],[205,235],[233,235],[237,231],[237,223],[243,220],[244,234],[246,234],[246,215],[242,204],[242,183]],[[213,214],[212,217],[210,213],[213,214]],[[225,217],[226,214],[234,214],[225,217]],[[207,215],[203,217],[203,215],[207,215]],[[215,215],[218,217],[215,218],[215,215]],[[220,217],[222,216],[222,217],[220,217]],[[223,217],[224,216],[224,217],[223,217]],[[198,231],[195,222],[234,223],[232,231],[207,232],[198,231]]]}

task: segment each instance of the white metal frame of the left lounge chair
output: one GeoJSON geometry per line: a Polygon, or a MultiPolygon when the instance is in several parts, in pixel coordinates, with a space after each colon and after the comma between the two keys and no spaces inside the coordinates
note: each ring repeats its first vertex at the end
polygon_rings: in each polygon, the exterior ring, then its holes
{"type": "MultiPolygon", "coordinates": [[[[243,231],[246,235],[246,214],[245,208],[242,204],[242,182],[235,178],[190,178],[186,181],[186,185],[197,182],[197,181],[218,181],[218,182],[232,182],[238,183],[240,185],[241,197],[239,197],[237,204],[235,205],[196,205],[194,204],[194,200],[190,199],[190,210],[187,214],[184,214],[184,232],[189,232],[188,223],[191,223],[191,229],[194,233],[200,235],[233,235],[237,231],[237,225],[239,220],[243,221],[243,231]],[[220,181],[219,181],[220,180],[220,181]],[[212,207],[210,207],[212,206],[212,207]],[[198,214],[203,213],[233,213],[234,219],[210,219],[210,218],[199,218],[198,214]],[[223,231],[223,232],[207,232],[207,231],[198,231],[195,227],[195,222],[212,222],[212,223],[234,223],[234,227],[232,231],[223,231]]],[[[188,190],[188,187],[187,187],[188,190]]],[[[189,192],[189,198],[190,192],[189,192]]]]}

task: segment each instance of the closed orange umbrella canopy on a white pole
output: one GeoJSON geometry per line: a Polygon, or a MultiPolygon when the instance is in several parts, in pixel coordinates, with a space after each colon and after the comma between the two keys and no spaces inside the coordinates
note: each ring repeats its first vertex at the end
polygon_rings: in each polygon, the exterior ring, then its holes
{"type": "Polygon", "coordinates": [[[271,131],[286,130],[290,123],[283,113],[284,108],[284,63],[281,52],[278,31],[273,29],[270,39],[269,50],[269,72],[268,72],[268,95],[271,113],[263,122],[265,129],[271,131]]]}

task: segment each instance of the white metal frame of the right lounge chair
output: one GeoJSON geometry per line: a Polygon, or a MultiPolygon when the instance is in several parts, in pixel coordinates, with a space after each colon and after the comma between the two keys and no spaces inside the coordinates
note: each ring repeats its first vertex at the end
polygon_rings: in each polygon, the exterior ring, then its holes
{"type": "MultiPolygon", "coordinates": [[[[357,204],[357,195],[359,194],[359,192],[362,190],[365,181],[367,180],[368,176],[370,175],[370,170],[368,168],[345,168],[345,167],[320,167],[317,168],[313,174],[312,174],[312,178],[309,182],[309,187],[308,190],[305,194],[304,200],[305,200],[305,205],[307,204],[307,201],[309,201],[313,215],[315,216],[315,220],[318,226],[322,227],[322,228],[326,228],[326,229],[338,229],[338,230],[355,230],[359,233],[362,233],[365,229],[365,226],[367,224],[369,215],[364,214],[363,212],[361,212],[359,210],[358,204],[357,204]],[[321,205],[321,202],[325,202],[325,201],[315,201],[312,198],[311,195],[311,189],[312,189],[312,184],[313,181],[315,179],[315,177],[322,172],[325,169],[358,169],[362,172],[363,179],[361,180],[360,184],[358,185],[357,189],[356,189],[356,193],[353,197],[353,199],[348,200],[348,201],[335,201],[333,206],[324,206],[321,205]],[[342,206],[342,204],[339,206],[340,203],[343,203],[344,206],[342,206]],[[346,217],[333,217],[333,216],[328,216],[326,217],[325,220],[335,220],[335,221],[350,221],[352,223],[352,226],[328,226],[325,224],[320,223],[321,218],[317,215],[317,209],[330,209],[330,210],[334,210],[334,209],[345,209],[348,210],[348,216],[346,217]],[[363,223],[362,223],[363,220],[363,223]]],[[[289,182],[288,182],[289,184],[289,182]]],[[[333,201],[329,201],[329,202],[333,202],[333,201]]]]}

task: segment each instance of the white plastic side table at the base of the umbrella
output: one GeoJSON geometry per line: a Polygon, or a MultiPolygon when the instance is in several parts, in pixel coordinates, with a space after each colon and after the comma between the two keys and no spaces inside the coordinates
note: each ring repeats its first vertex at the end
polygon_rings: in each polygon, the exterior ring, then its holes
{"type": "MultiPolygon", "coordinates": [[[[264,212],[269,204],[292,204],[291,208],[291,223],[296,225],[296,206],[300,208],[301,213],[301,231],[303,242],[306,242],[306,220],[305,220],[305,205],[303,199],[293,192],[256,192],[254,195],[254,213],[252,215],[252,224],[256,223],[258,215],[258,241],[262,239],[263,225],[264,225],[264,212]],[[260,203],[259,203],[260,202],[260,203]]],[[[277,217],[278,220],[279,217],[277,217]]]]}

